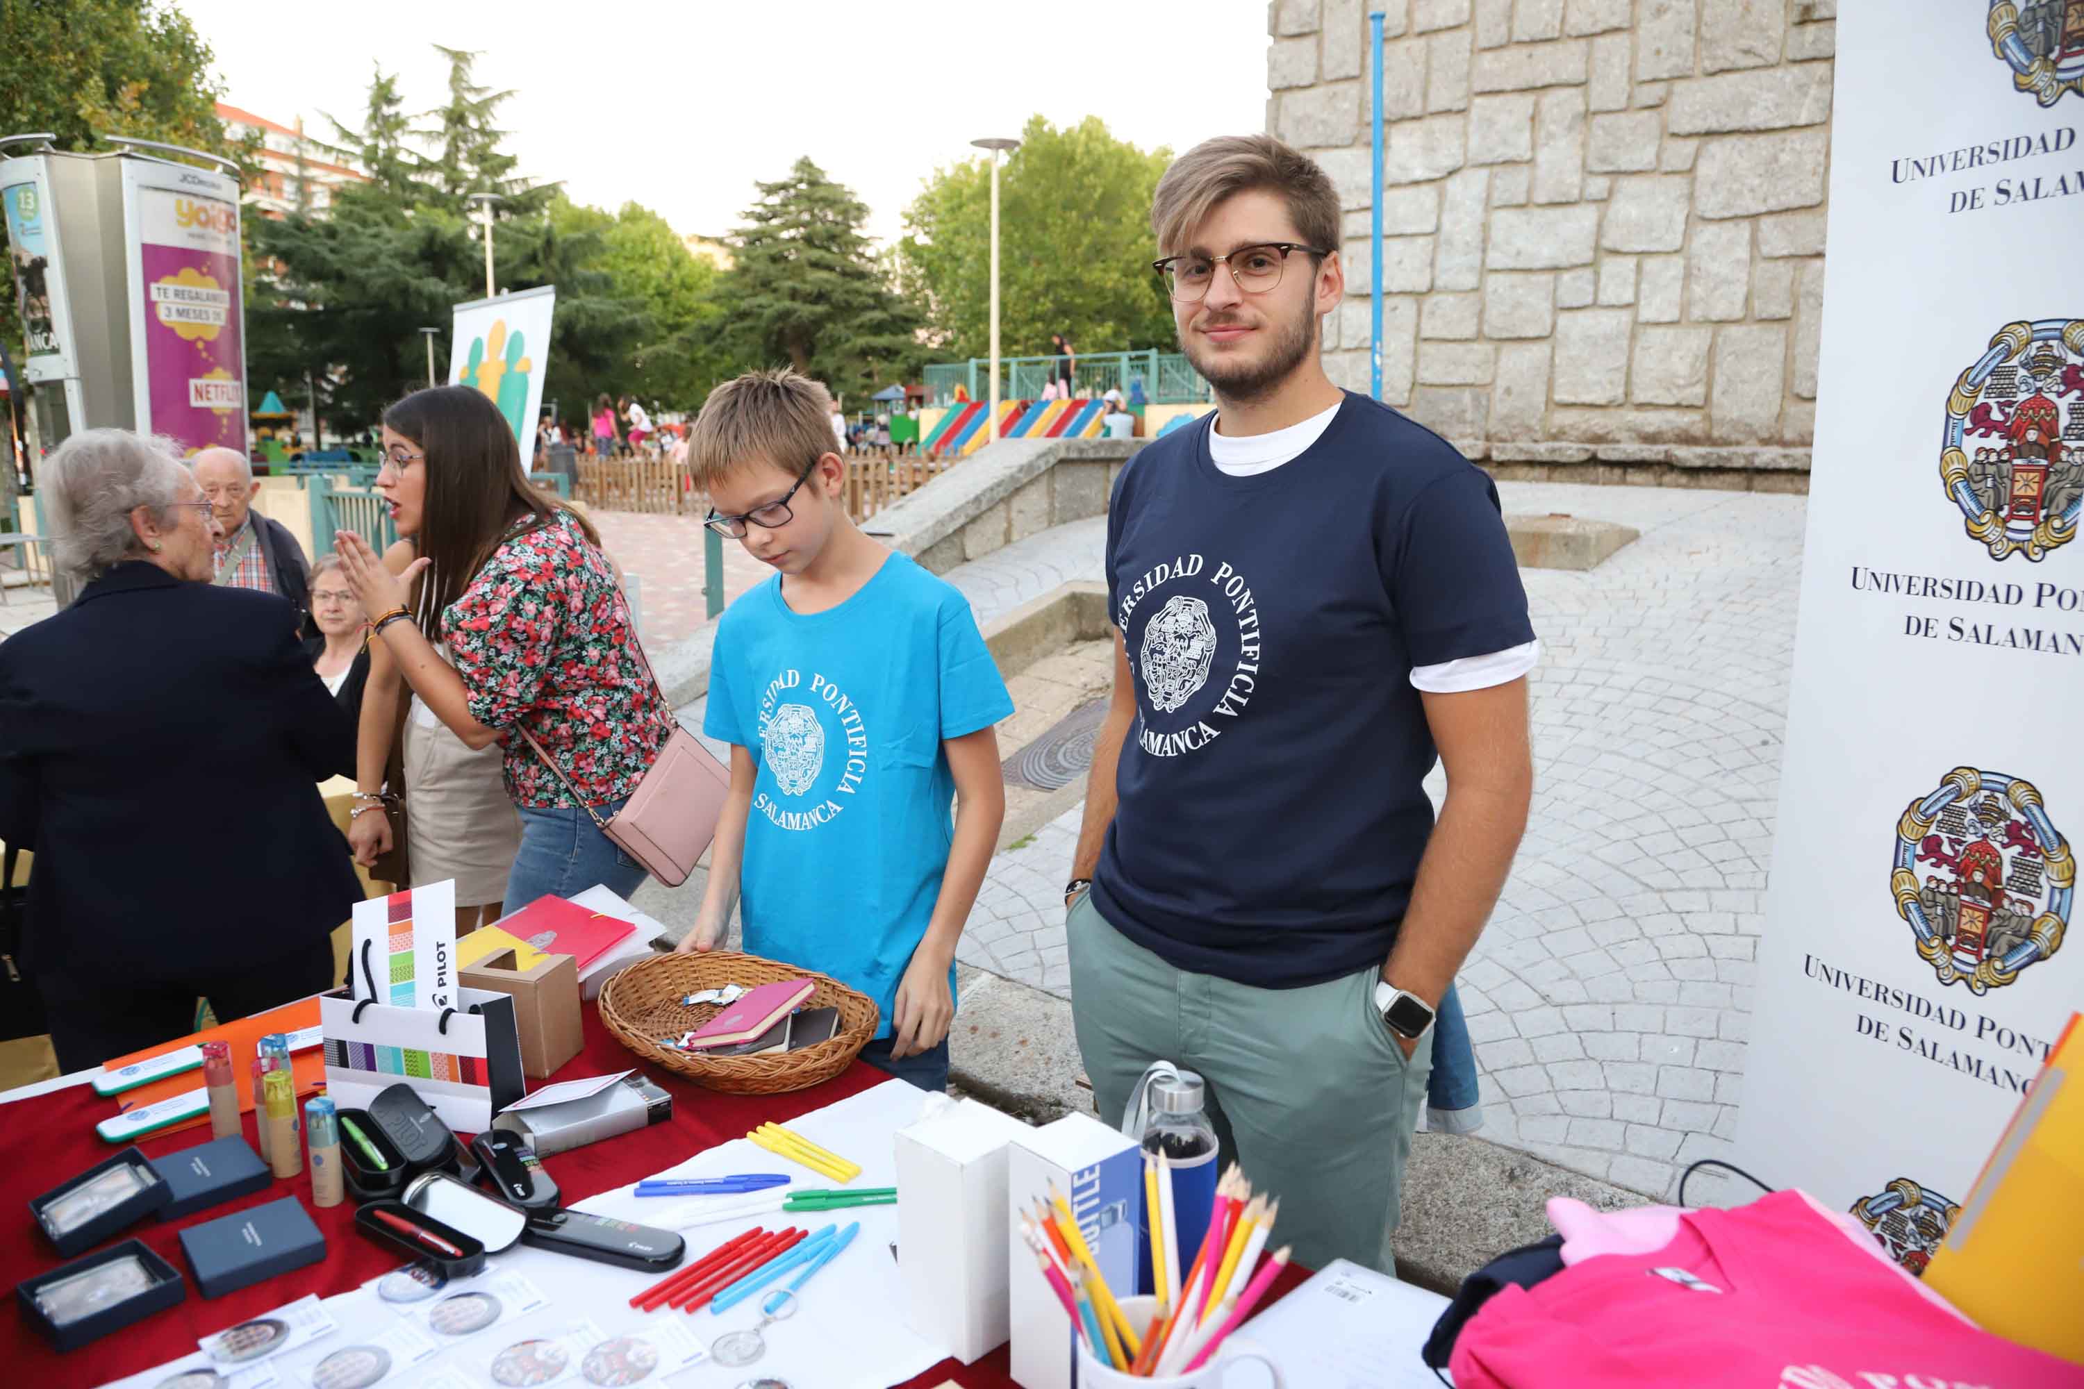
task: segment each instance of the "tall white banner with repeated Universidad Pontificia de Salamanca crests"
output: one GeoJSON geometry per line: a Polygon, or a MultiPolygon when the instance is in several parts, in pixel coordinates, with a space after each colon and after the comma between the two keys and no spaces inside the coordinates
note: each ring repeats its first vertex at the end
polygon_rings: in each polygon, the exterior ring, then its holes
{"type": "Polygon", "coordinates": [[[2084,823],[2080,77],[2084,0],[1838,15],[1738,1162],[1855,1212],[1913,1270],[2084,1006],[2084,943],[2063,945],[2084,823]]]}

